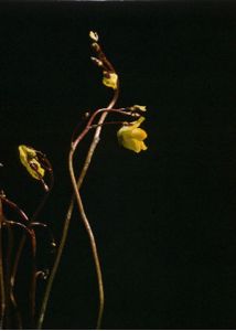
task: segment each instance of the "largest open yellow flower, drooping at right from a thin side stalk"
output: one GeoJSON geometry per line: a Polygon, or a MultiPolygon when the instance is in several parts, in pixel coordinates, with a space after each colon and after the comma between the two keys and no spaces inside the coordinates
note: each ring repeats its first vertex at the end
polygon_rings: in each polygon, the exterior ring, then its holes
{"type": "Polygon", "coordinates": [[[148,135],[143,129],[139,128],[143,120],[144,117],[140,117],[133,121],[132,125],[122,126],[117,132],[119,143],[136,153],[139,153],[141,150],[147,150],[148,148],[143,142],[148,135]]]}

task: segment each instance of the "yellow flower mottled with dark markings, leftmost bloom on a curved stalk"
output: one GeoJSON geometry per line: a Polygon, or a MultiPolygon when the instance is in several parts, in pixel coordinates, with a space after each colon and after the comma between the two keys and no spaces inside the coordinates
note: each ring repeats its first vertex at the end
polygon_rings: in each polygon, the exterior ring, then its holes
{"type": "Polygon", "coordinates": [[[42,180],[45,170],[37,160],[36,151],[32,147],[25,145],[19,146],[21,163],[26,168],[28,172],[36,180],[42,180]]]}

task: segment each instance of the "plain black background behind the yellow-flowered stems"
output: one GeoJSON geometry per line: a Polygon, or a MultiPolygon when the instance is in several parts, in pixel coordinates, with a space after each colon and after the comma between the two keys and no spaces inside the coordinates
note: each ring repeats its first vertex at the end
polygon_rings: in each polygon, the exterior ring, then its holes
{"type": "MultiPolygon", "coordinates": [[[[17,147],[45,152],[55,188],[41,221],[57,239],[72,131],[111,96],[90,63],[89,30],[119,73],[118,106],[148,107],[148,151],[120,148],[106,127],[82,190],[105,329],[236,327],[235,21],[234,1],[0,4],[1,185],[31,214],[42,188],[17,147]]],[[[74,213],[44,327],[90,329],[96,314],[90,248],[74,213]]]]}

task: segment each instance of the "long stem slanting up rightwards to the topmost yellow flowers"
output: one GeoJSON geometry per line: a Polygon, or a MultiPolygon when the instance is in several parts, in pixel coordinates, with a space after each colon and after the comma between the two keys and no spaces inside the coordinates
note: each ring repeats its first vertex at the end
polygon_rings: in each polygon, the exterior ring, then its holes
{"type": "MultiPolygon", "coordinates": [[[[109,103],[109,105],[107,106],[107,109],[110,109],[116,105],[118,96],[119,96],[119,88],[117,88],[115,90],[114,97],[112,97],[111,102],[109,103]]],[[[99,121],[98,121],[99,126],[95,130],[93,141],[90,143],[89,150],[87,152],[87,157],[85,159],[83,169],[81,171],[81,174],[79,174],[77,183],[76,183],[77,190],[81,189],[82,183],[84,181],[84,178],[87,173],[87,170],[88,170],[88,167],[90,164],[93,154],[95,152],[95,149],[96,149],[98,140],[99,140],[98,138],[100,136],[100,131],[101,131],[101,128],[103,128],[103,122],[105,121],[106,117],[107,117],[107,111],[103,113],[100,118],[99,118],[99,121]]],[[[40,309],[40,316],[39,316],[39,321],[37,321],[37,329],[39,330],[42,329],[43,321],[44,321],[44,318],[45,318],[45,311],[46,311],[50,293],[51,293],[51,290],[52,290],[53,281],[55,279],[55,275],[56,275],[56,271],[58,269],[60,261],[61,261],[62,254],[63,254],[63,249],[64,249],[65,242],[66,242],[66,238],[67,238],[68,227],[69,227],[69,224],[71,224],[72,213],[73,213],[73,210],[74,210],[74,204],[75,204],[75,194],[73,193],[69,205],[68,205],[68,210],[67,210],[67,213],[66,213],[66,216],[65,216],[62,238],[61,238],[61,242],[60,242],[60,245],[58,245],[55,261],[54,261],[54,265],[52,267],[52,271],[51,271],[50,277],[49,277],[49,281],[47,281],[47,285],[46,285],[46,289],[45,289],[45,293],[44,293],[44,297],[43,297],[42,306],[41,306],[41,309],[40,309]]]]}

